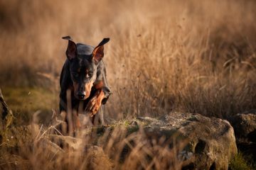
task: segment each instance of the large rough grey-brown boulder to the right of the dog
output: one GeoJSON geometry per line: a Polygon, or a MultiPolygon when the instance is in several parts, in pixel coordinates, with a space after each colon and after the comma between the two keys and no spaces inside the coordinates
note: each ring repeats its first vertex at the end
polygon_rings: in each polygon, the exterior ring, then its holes
{"type": "Polygon", "coordinates": [[[138,118],[151,141],[165,139],[169,147],[186,142],[178,152],[182,169],[228,169],[238,150],[234,130],[227,120],[199,114],[170,113],[159,119],[138,118]],[[186,163],[185,163],[186,162],[186,163]]]}

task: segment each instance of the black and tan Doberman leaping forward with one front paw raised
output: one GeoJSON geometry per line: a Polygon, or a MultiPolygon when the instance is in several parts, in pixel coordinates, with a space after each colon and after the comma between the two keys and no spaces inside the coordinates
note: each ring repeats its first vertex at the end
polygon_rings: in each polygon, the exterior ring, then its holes
{"type": "Polygon", "coordinates": [[[65,121],[68,123],[69,130],[70,125],[73,125],[74,131],[80,127],[78,112],[81,111],[90,113],[92,124],[95,123],[96,113],[100,114],[100,122],[104,124],[100,106],[107,102],[111,91],[107,84],[106,69],[102,58],[104,45],[110,38],[104,38],[97,47],[82,43],[76,44],[70,36],[63,37],[63,39],[68,40],[68,48],[65,52],[67,59],[60,74],[60,113],[63,111],[67,113],[65,121]],[[70,111],[71,113],[75,111],[75,113],[68,118],[70,111]],[[76,115],[76,120],[72,118],[73,115],[76,115]]]}

